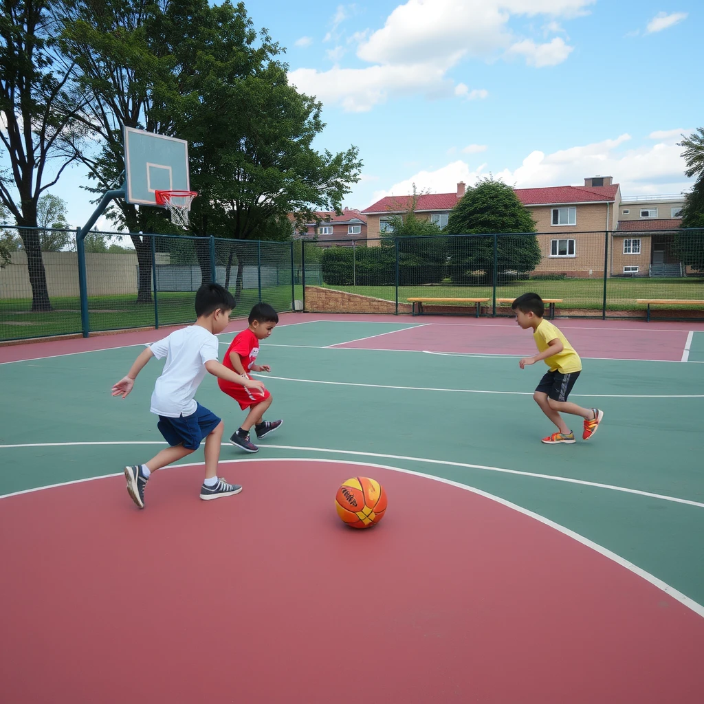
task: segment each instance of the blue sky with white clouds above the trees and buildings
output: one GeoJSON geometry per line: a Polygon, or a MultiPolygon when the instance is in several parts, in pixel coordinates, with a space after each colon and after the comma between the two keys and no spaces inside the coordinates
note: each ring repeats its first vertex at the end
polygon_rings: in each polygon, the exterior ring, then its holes
{"type": "MultiPolygon", "coordinates": [[[[448,193],[491,173],[517,188],[607,175],[622,196],[679,194],[681,134],[704,125],[693,0],[251,0],[289,82],[322,102],[315,148],[355,145],[344,206],[448,193]]],[[[80,168],[52,189],[82,225],[80,168]]],[[[99,221],[99,225],[103,222],[99,221]]]]}

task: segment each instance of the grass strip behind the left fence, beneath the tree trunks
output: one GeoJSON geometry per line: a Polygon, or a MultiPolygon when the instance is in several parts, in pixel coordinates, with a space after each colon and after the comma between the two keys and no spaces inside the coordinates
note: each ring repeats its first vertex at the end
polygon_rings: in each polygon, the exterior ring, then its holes
{"type": "MultiPolygon", "coordinates": [[[[296,287],[296,297],[303,291],[296,287]]],[[[192,322],[194,291],[157,294],[159,327],[192,322]]],[[[262,289],[262,299],[276,310],[291,310],[291,286],[262,289]]],[[[259,300],[257,289],[244,289],[234,315],[247,315],[259,300]]],[[[81,332],[80,299],[61,296],[51,299],[54,310],[32,313],[30,298],[5,298],[0,301],[0,341],[81,332]]],[[[91,332],[131,327],[152,327],[155,322],[154,303],[137,303],[134,294],[94,296],[88,302],[91,332]]]]}

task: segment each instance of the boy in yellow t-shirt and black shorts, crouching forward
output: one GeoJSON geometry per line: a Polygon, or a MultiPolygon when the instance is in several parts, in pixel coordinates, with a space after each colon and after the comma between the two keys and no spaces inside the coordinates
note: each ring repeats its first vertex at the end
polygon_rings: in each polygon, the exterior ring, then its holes
{"type": "Polygon", "coordinates": [[[522,294],[511,304],[516,311],[516,322],[522,329],[533,329],[533,339],[538,347],[534,357],[524,357],[518,365],[523,369],[527,365],[543,360],[550,370],[538,384],[533,398],[550,420],[558,427],[558,432],[543,438],[548,445],[572,444],[574,433],[562,420],[560,413],[580,415],[584,418],[583,440],[589,440],[596,433],[603,410],[582,408],[567,401],[574,382],[582,371],[582,360],[567,341],[567,338],[548,320],[543,320],[545,305],[538,294],[522,294]]]}

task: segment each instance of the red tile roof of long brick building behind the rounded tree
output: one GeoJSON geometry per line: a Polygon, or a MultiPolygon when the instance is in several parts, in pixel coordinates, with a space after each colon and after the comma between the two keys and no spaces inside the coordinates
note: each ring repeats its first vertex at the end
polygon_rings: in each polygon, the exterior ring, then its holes
{"type": "MultiPolygon", "coordinates": [[[[524,206],[555,205],[556,203],[594,203],[614,201],[618,184],[612,186],[558,186],[551,188],[517,188],[515,193],[524,206]]],[[[452,210],[456,193],[418,196],[416,210],[452,210]]],[[[410,196],[386,196],[362,210],[363,213],[399,213],[409,209],[410,196]]]]}

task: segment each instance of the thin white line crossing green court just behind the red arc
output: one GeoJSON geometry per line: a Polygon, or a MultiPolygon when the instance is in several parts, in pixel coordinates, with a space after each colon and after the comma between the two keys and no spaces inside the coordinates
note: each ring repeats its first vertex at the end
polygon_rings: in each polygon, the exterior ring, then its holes
{"type": "MultiPolygon", "coordinates": [[[[28,443],[19,445],[0,445],[0,449],[4,448],[31,448],[31,447],[66,447],[66,446],[94,446],[94,445],[160,445],[165,446],[166,443],[158,440],[153,441],[114,441],[114,442],[57,442],[57,443],[28,443]]],[[[222,447],[231,447],[229,442],[220,443],[222,447]]],[[[654,494],[651,491],[641,491],[641,489],[629,489],[626,486],[617,486],[616,484],[601,484],[599,482],[589,482],[586,479],[574,479],[573,477],[561,477],[558,474],[539,474],[537,472],[523,472],[522,470],[509,470],[505,467],[492,467],[491,465],[472,465],[466,462],[453,462],[452,460],[432,460],[424,457],[410,457],[408,455],[387,455],[378,452],[362,452],[358,450],[337,450],[335,448],[320,448],[320,447],[299,447],[296,445],[260,445],[262,448],[270,448],[272,450],[294,450],[297,452],[325,452],[333,455],[353,455],[356,457],[377,457],[387,460],[406,460],[408,462],[421,462],[430,465],[442,465],[444,467],[462,467],[469,470],[482,470],[484,472],[499,472],[501,474],[515,474],[518,477],[533,477],[534,479],[546,479],[549,482],[565,482],[567,484],[579,484],[582,486],[593,486],[596,489],[608,489],[609,491],[621,491],[624,494],[636,494],[637,496],[647,496],[648,498],[656,498],[660,501],[671,501],[672,503],[682,503],[697,508],[704,508],[704,503],[691,501],[689,498],[678,498],[677,496],[667,496],[667,494],[654,494]]],[[[277,459],[277,458],[272,458],[277,459]]],[[[229,460],[220,459],[220,462],[230,461],[246,461],[246,460],[229,460]]],[[[323,460],[319,460],[323,461],[323,460]]],[[[198,463],[196,463],[198,464],[198,463]]],[[[202,464],[202,463],[201,463],[202,464]]],[[[182,467],[184,465],[173,465],[182,467]]],[[[105,474],[106,477],[116,476],[115,474],[105,474]]],[[[88,479],[76,479],[75,482],[65,482],[66,484],[75,484],[76,482],[89,481],[88,479]]],[[[51,484],[51,486],[63,486],[63,484],[51,484]]],[[[13,494],[5,494],[0,498],[15,496],[15,494],[29,494],[32,491],[39,491],[47,487],[39,486],[34,489],[24,489],[16,491],[13,494]]]]}

